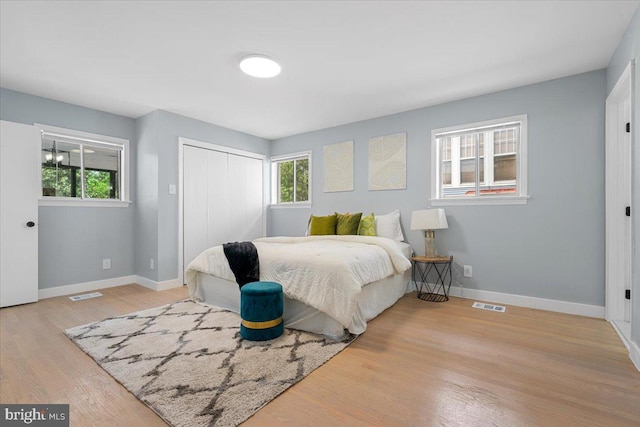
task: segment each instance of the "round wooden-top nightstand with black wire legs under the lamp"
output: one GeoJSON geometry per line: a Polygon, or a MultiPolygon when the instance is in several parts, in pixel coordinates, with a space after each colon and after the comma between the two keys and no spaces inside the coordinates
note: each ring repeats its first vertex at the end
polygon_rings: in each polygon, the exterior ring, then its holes
{"type": "Polygon", "coordinates": [[[448,257],[414,256],[411,261],[413,262],[413,283],[418,290],[418,298],[432,302],[449,301],[453,255],[448,257]],[[437,280],[436,283],[429,283],[429,274],[433,271],[437,274],[437,280]]]}

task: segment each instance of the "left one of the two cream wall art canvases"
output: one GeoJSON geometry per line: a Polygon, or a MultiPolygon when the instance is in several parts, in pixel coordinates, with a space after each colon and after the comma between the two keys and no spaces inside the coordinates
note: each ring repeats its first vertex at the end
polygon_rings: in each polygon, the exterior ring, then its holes
{"type": "Polygon", "coordinates": [[[324,146],[324,192],[353,191],[353,141],[324,146]]]}

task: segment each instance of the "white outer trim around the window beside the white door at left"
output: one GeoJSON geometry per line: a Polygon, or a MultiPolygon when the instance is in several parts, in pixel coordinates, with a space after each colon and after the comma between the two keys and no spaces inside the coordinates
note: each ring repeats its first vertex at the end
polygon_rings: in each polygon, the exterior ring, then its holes
{"type": "MultiPolygon", "coordinates": [[[[120,177],[120,199],[119,200],[98,200],[98,199],[78,199],[67,197],[46,197],[40,194],[38,206],[73,206],[73,207],[127,207],[131,204],[130,196],[130,144],[128,139],[115,136],[100,135],[90,132],[83,132],[73,129],[65,129],[56,126],[35,123],[34,126],[40,131],[48,134],[56,134],[61,137],[79,139],[97,144],[113,144],[122,147],[123,164],[122,176],[120,177]]],[[[42,144],[42,142],[41,142],[42,144]]],[[[40,173],[40,177],[42,174],[40,173]]],[[[42,187],[42,184],[40,185],[42,187]]],[[[41,190],[42,193],[42,190],[41,190]]]]}

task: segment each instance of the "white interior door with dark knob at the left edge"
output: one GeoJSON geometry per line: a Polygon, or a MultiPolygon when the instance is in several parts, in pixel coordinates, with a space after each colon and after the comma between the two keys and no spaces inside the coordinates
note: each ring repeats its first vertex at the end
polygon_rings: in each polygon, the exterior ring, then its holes
{"type": "Polygon", "coordinates": [[[40,138],[0,121],[0,307],[38,300],[40,138]]]}

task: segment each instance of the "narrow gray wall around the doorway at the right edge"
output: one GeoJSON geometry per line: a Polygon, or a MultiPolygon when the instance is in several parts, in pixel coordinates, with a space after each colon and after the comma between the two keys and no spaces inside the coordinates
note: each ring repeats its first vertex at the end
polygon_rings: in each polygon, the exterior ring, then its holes
{"type": "MultiPolygon", "coordinates": [[[[625,32],[618,48],[616,49],[609,67],[607,68],[607,94],[615,86],[620,75],[631,60],[636,60],[640,55],[640,9],[636,10],[633,15],[627,31],[625,32]]],[[[638,132],[638,124],[640,124],[640,64],[636,62],[635,72],[635,116],[633,118],[633,207],[632,221],[634,229],[634,255],[633,255],[633,294],[631,295],[633,304],[633,326],[631,328],[631,340],[636,344],[640,344],[640,250],[637,245],[638,228],[640,227],[640,173],[637,173],[640,166],[640,132],[638,132]]]]}

